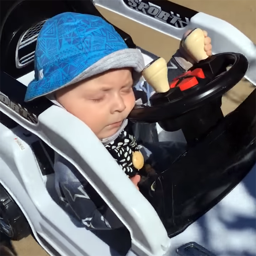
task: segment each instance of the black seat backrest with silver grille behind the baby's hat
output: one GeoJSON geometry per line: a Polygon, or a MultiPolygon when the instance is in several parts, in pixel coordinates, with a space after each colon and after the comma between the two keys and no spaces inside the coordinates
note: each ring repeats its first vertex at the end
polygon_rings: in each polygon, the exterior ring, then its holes
{"type": "MultiPolygon", "coordinates": [[[[44,0],[43,4],[35,0],[9,0],[1,5],[0,69],[15,79],[34,69],[37,37],[48,18],[63,12],[102,17],[91,0],[44,0]]],[[[116,30],[129,47],[135,47],[128,34],[116,30]]]]}

